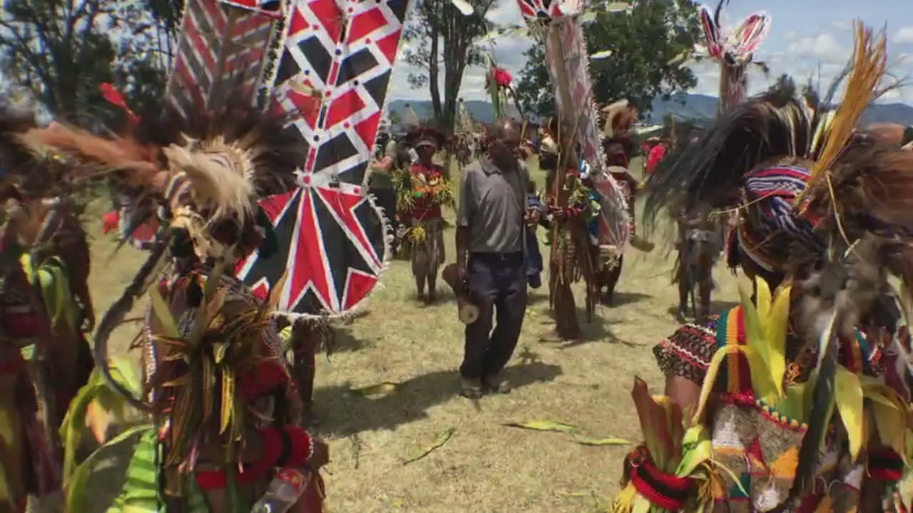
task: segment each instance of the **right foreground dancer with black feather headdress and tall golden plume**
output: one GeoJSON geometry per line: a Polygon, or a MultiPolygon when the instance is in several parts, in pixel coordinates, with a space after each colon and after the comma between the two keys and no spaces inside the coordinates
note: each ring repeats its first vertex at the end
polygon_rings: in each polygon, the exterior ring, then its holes
{"type": "Polygon", "coordinates": [[[667,397],[636,380],[645,444],[614,511],[905,510],[909,340],[888,277],[913,285],[913,154],[853,133],[885,71],[884,35],[857,26],[855,47],[844,99],[823,102],[841,105],[834,117],[750,99],[657,170],[650,220],[666,206],[739,208],[756,301],[745,291],[656,346],[667,397]]]}

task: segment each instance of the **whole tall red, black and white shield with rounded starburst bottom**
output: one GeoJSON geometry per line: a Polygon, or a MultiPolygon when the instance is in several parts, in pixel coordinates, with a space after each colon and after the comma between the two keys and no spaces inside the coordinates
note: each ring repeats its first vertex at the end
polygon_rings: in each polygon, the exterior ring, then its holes
{"type": "Polygon", "coordinates": [[[277,109],[305,112],[288,128],[307,154],[301,188],[260,202],[284,250],[268,259],[254,254],[236,268],[258,294],[289,269],[279,303],[289,318],[349,314],[389,257],[386,221],[363,184],[408,5],[291,3],[274,89],[277,109]]]}

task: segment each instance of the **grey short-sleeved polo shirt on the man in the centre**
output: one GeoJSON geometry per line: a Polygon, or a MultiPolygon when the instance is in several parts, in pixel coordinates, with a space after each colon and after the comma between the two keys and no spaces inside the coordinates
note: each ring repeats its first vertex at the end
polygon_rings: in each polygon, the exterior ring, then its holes
{"type": "Polygon", "coordinates": [[[469,164],[460,177],[456,225],[469,228],[470,253],[513,253],[523,249],[529,181],[526,165],[502,172],[479,160],[469,164]]]}

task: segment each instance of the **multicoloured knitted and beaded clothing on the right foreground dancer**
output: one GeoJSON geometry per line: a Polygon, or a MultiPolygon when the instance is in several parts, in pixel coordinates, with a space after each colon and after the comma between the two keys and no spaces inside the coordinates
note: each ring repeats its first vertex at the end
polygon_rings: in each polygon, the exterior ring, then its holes
{"type": "MultiPolygon", "coordinates": [[[[859,333],[843,341],[838,359],[847,369],[878,375],[884,334],[859,333]]],[[[745,343],[740,307],[700,324],[689,324],[661,341],[654,353],[666,375],[678,375],[702,384],[714,351],[745,343]]],[[[787,338],[787,362],[803,369],[787,380],[804,382],[816,361],[813,348],[802,347],[795,334],[787,338]],[[812,351],[809,351],[812,349],[812,351]]],[[[729,353],[714,383],[718,405],[708,419],[713,463],[728,469],[717,472],[712,487],[715,510],[729,512],[770,511],[788,497],[803,436],[807,429],[756,399],[751,389],[750,367],[741,353],[729,353]]],[[[835,421],[824,438],[823,453],[813,490],[786,511],[855,511],[866,472],[865,461],[853,464],[845,454],[846,434],[835,421]]]]}

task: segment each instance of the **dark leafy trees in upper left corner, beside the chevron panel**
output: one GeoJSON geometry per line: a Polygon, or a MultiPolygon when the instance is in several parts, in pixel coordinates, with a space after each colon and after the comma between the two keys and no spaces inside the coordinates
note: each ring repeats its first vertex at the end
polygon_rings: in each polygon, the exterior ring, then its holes
{"type": "Polygon", "coordinates": [[[90,129],[124,113],[102,98],[108,82],[133,110],[163,95],[184,0],[7,0],[0,73],[57,119],[90,129]]]}

